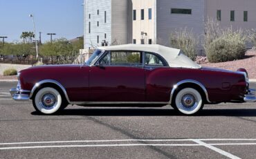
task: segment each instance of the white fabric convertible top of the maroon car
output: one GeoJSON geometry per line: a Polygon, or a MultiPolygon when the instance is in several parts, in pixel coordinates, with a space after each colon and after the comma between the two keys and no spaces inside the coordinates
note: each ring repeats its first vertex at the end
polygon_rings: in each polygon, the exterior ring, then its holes
{"type": "Polygon", "coordinates": [[[176,48],[169,48],[157,44],[125,44],[117,46],[99,47],[100,50],[138,50],[152,52],[161,55],[170,67],[181,68],[201,68],[199,64],[193,62],[190,58],[183,55],[182,51],[176,48]]]}

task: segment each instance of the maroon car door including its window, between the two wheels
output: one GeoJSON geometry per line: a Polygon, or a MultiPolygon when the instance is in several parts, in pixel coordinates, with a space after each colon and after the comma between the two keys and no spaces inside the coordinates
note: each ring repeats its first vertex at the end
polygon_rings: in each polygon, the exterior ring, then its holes
{"type": "Polygon", "coordinates": [[[90,101],[145,102],[142,61],[138,51],[106,51],[90,68],[90,101]]]}

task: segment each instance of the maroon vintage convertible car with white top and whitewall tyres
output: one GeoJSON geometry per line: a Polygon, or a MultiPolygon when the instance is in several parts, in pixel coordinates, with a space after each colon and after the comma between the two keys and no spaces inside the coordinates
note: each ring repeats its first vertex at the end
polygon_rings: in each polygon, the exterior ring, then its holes
{"type": "Polygon", "coordinates": [[[102,47],[82,65],[35,66],[20,71],[17,101],[33,100],[52,114],[81,106],[165,106],[190,115],[203,104],[255,102],[246,70],[203,68],[179,49],[160,45],[102,47]]]}

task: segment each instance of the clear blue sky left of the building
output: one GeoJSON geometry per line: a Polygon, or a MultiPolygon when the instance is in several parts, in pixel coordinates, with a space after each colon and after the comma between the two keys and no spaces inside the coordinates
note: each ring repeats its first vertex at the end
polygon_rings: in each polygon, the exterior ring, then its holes
{"type": "MultiPolygon", "coordinates": [[[[24,31],[34,32],[33,15],[37,39],[42,32],[42,41],[64,37],[74,39],[83,35],[83,0],[0,0],[0,37],[5,41],[21,41],[24,31]]],[[[0,39],[1,40],[1,39],[0,39]]]]}

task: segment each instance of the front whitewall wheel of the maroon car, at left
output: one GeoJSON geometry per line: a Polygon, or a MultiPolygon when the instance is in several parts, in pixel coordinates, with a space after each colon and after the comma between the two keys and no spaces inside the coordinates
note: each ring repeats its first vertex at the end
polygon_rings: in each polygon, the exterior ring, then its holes
{"type": "Polygon", "coordinates": [[[36,111],[44,114],[53,114],[67,106],[64,97],[55,88],[41,88],[33,99],[36,111]]]}

